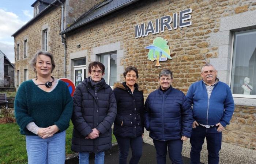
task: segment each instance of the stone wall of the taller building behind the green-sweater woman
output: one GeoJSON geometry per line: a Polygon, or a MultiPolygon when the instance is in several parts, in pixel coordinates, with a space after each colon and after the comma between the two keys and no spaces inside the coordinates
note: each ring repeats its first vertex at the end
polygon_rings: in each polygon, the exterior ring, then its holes
{"type": "Polygon", "coordinates": [[[35,77],[33,67],[31,67],[29,63],[37,51],[42,51],[42,30],[44,30],[44,28],[48,29],[48,52],[53,54],[54,62],[56,63],[56,67],[52,75],[56,79],[63,77],[64,46],[61,44],[61,36],[59,35],[61,25],[60,14],[61,8],[54,7],[15,36],[15,79],[17,80],[17,70],[19,70],[20,83],[22,83],[24,80],[24,69],[29,71],[29,79],[35,77]],[[27,39],[27,58],[23,57],[25,39],[27,39]],[[16,48],[18,43],[19,60],[16,60],[16,48]]]}

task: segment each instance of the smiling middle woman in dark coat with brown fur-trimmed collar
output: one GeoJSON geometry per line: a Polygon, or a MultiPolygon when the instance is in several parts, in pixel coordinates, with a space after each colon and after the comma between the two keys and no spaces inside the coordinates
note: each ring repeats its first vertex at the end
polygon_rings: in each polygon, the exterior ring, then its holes
{"type": "Polygon", "coordinates": [[[125,82],[115,83],[114,95],[117,101],[117,115],[114,121],[114,135],[119,147],[119,164],[127,163],[129,146],[132,149],[130,164],[138,164],[142,155],[143,92],[136,84],[138,70],[129,66],[123,73],[125,82]]]}

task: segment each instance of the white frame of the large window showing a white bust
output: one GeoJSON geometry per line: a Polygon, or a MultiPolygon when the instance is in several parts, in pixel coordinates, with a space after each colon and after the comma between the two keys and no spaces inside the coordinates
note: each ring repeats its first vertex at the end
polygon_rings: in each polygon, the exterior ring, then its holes
{"type": "MultiPolygon", "coordinates": [[[[242,30],[247,31],[247,30],[242,30]]],[[[230,58],[230,71],[229,71],[229,86],[231,87],[231,77],[232,77],[232,66],[233,66],[233,53],[234,53],[234,36],[235,32],[232,32],[232,46],[231,46],[231,58],[230,58]]],[[[233,97],[236,98],[256,98],[256,95],[249,95],[249,94],[233,94],[233,97]]]]}

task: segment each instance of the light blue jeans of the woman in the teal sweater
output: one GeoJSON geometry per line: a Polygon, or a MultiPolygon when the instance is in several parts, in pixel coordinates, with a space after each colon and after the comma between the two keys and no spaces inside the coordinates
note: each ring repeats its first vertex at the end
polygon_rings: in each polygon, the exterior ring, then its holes
{"type": "Polygon", "coordinates": [[[66,131],[50,138],[26,135],[27,159],[29,164],[64,164],[66,131]]]}

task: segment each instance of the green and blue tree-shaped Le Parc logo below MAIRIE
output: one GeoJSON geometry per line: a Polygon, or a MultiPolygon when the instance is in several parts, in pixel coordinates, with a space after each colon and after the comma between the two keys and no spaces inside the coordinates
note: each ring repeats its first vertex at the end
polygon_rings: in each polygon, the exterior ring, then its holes
{"type": "Polygon", "coordinates": [[[152,62],[154,60],[157,60],[157,64],[155,66],[161,66],[159,62],[166,61],[168,59],[172,59],[170,56],[170,49],[167,45],[167,40],[157,37],[154,39],[153,44],[145,47],[146,49],[149,49],[149,52],[147,54],[148,59],[152,62]]]}

